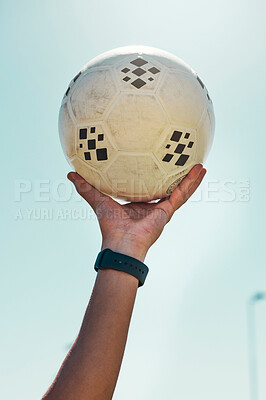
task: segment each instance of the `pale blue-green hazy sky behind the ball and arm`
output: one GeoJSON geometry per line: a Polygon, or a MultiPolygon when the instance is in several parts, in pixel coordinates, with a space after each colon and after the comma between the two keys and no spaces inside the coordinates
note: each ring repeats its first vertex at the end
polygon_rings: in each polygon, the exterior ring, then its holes
{"type": "MultiPolygon", "coordinates": [[[[131,44],[198,72],[216,132],[204,184],[146,259],[114,399],[249,399],[246,303],[266,291],[265,12],[262,0],[1,2],[1,399],[40,399],[79,330],[100,233],[66,180],[58,111],[87,61],[131,44]]],[[[266,301],[256,321],[261,400],[266,301]]]]}

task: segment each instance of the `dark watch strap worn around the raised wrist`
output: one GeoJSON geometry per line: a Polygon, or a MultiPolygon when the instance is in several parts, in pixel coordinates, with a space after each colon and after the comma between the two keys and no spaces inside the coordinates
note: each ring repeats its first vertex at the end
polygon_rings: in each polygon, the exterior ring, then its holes
{"type": "Polygon", "coordinates": [[[126,272],[139,280],[139,287],[144,284],[149,272],[149,268],[143,262],[110,249],[104,249],[98,254],[94,269],[95,271],[98,271],[98,269],[116,269],[126,272]]]}

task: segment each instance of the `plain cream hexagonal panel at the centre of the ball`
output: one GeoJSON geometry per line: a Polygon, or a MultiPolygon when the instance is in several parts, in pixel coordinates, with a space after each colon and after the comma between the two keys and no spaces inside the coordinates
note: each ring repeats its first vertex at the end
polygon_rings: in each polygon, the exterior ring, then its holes
{"type": "Polygon", "coordinates": [[[161,105],[152,95],[122,94],[106,123],[117,148],[124,151],[151,151],[168,125],[161,105]]]}

